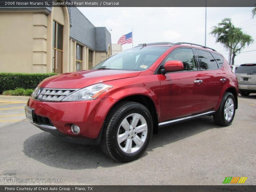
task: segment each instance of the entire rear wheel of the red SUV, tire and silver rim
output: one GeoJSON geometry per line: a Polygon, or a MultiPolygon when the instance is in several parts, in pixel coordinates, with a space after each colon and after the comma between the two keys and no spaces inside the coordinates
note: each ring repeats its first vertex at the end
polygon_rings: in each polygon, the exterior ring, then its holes
{"type": "Polygon", "coordinates": [[[220,103],[220,107],[213,115],[214,122],[221,126],[232,123],[236,112],[236,100],[232,93],[226,92],[220,103]]]}

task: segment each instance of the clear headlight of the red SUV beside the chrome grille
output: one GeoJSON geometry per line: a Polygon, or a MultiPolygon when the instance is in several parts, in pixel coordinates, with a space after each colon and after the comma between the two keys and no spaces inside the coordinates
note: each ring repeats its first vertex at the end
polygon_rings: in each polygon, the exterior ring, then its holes
{"type": "Polygon", "coordinates": [[[80,100],[94,100],[100,96],[101,93],[107,91],[108,89],[112,88],[111,85],[107,85],[104,83],[94,84],[88,87],[84,87],[61,101],[80,101],[80,100]]]}

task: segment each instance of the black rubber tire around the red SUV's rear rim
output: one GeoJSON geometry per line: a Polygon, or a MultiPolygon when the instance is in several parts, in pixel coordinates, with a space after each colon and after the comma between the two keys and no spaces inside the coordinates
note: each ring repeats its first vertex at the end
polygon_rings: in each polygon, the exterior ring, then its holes
{"type": "Polygon", "coordinates": [[[232,93],[226,92],[224,94],[223,98],[222,98],[219,109],[216,111],[215,114],[213,114],[214,122],[218,125],[221,125],[221,126],[228,126],[232,123],[232,121],[234,119],[234,116],[235,116],[235,113],[236,113],[235,97],[232,93]],[[227,120],[226,116],[225,116],[226,113],[224,112],[224,110],[225,110],[225,104],[226,104],[228,99],[233,100],[233,116],[230,119],[227,120]]]}

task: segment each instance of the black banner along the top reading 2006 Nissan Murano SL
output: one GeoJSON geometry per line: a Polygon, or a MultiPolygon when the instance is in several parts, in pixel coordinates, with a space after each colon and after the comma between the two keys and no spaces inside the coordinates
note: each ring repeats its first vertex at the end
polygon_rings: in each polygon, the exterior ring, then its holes
{"type": "Polygon", "coordinates": [[[254,7],[255,0],[0,0],[9,7],[254,7]]]}

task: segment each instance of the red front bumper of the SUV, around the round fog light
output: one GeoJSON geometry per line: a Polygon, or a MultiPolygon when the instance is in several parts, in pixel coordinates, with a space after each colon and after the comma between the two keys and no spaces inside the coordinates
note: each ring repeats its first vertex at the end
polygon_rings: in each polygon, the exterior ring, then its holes
{"type": "Polygon", "coordinates": [[[99,144],[104,120],[115,102],[110,98],[44,102],[30,97],[27,106],[34,109],[31,123],[41,130],[73,143],[99,144]],[[79,134],[71,131],[72,124],[80,127],[79,134]]]}

